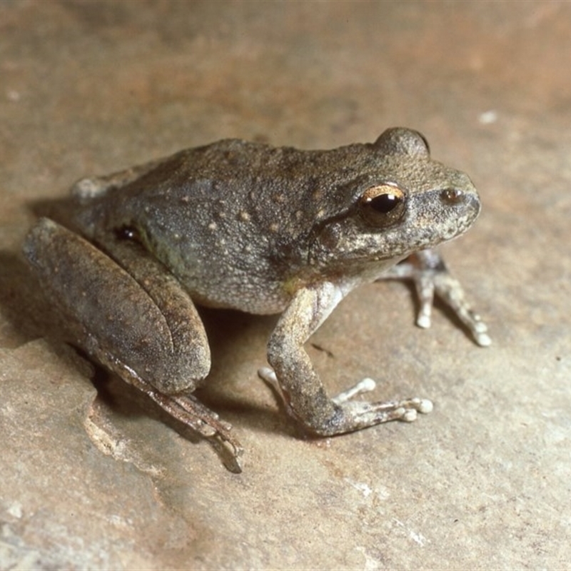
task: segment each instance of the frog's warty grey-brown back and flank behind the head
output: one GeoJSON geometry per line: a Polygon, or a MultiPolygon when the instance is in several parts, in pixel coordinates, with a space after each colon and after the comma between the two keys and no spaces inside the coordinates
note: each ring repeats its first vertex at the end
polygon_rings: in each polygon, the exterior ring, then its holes
{"type": "Polygon", "coordinates": [[[365,147],[218,141],[157,161],[99,197],[91,218],[105,220],[106,232],[133,228],[202,303],[277,313],[307,263],[315,223],[329,216],[332,189],[370,168],[365,147]]]}

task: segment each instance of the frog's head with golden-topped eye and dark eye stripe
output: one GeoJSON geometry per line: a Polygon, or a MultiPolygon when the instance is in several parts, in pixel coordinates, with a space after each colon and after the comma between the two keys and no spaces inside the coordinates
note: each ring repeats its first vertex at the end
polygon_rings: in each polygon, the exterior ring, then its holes
{"type": "Polygon", "coordinates": [[[363,175],[335,189],[338,208],[315,227],[312,265],[388,266],[460,236],[480,213],[470,178],[433,161],[417,131],[388,129],[365,149],[363,175]]]}

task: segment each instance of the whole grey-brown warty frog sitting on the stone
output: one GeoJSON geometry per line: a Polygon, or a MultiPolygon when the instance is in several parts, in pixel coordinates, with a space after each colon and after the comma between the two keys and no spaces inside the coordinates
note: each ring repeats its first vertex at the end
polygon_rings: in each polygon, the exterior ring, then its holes
{"type": "Polygon", "coordinates": [[[479,195],[413,129],[327,150],[223,139],[82,178],[71,202],[66,224],[41,218],[24,242],[66,339],[225,446],[233,471],[241,443],[194,394],[211,368],[197,305],[279,315],[258,374],[316,437],[433,408],[426,398],[355,398],[375,389],[370,378],[328,395],[305,343],[360,285],[412,280],[420,327],[437,296],[475,343],[490,344],[435,250],[473,225],[479,195]]]}

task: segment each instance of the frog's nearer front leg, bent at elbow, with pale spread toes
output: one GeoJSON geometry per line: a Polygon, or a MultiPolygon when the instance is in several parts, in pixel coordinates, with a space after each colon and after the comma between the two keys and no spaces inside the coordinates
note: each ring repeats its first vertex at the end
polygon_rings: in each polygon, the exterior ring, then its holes
{"type": "Polygon", "coordinates": [[[335,398],[328,397],[303,344],[341,298],[338,286],[327,282],[298,291],[268,342],[273,370],[261,369],[261,377],[277,382],[290,414],[319,435],[348,433],[390,420],[415,420],[417,412],[430,412],[432,403],[419,398],[380,403],[350,400],[374,388],[370,379],[335,398]]]}

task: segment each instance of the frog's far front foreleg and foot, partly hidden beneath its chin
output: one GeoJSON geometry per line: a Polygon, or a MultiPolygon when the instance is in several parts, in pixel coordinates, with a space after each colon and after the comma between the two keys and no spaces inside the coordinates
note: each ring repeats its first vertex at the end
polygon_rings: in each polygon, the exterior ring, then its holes
{"type": "Polygon", "coordinates": [[[492,343],[487,325],[480,315],[470,308],[460,282],[446,268],[443,259],[433,250],[424,250],[410,256],[407,261],[390,268],[380,279],[411,279],[415,283],[420,309],[416,324],[430,327],[434,295],[438,295],[453,310],[481,347],[492,343]]]}

